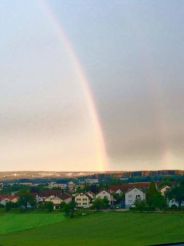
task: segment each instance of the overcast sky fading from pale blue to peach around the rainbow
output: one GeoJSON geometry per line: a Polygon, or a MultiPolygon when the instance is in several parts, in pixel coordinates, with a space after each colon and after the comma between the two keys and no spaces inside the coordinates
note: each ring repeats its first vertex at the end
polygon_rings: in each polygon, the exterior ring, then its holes
{"type": "Polygon", "coordinates": [[[183,0],[1,0],[0,30],[0,171],[183,169],[183,0]]]}

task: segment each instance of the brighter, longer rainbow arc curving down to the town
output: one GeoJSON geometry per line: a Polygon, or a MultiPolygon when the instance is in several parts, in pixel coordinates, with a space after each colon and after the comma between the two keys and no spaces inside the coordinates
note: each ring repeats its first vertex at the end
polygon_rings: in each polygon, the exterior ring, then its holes
{"type": "Polygon", "coordinates": [[[96,143],[95,146],[96,160],[98,165],[97,167],[95,165],[95,168],[98,168],[98,171],[104,171],[107,169],[108,157],[107,157],[107,151],[106,151],[104,136],[102,132],[102,127],[96,110],[93,93],[90,89],[89,81],[85,75],[85,72],[82,69],[79,59],[77,58],[77,55],[75,54],[75,51],[72,47],[70,40],[68,39],[66,33],[64,32],[60,24],[60,21],[53,13],[48,2],[46,0],[39,0],[39,4],[44,14],[49,18],[50,22],[52,23],[53,28],[57,33],[58,39],[62,43],[64,43],[64,46],[68,52],[68,56],[70,57],[72,65],[76,70],[76,74],[79,78],[80,86],[83,90],[87,108],[89,110],[90,119],[94,128],[95,143],[96,143]]]}

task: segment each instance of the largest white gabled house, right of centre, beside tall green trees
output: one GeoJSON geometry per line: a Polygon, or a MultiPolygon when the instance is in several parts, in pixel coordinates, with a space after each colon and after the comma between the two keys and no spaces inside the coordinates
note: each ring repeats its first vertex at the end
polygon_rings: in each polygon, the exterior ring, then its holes
{"type": "Polygon", "coordinates": [[[143,191],[133,188],[125,193],[125,207],[130,208],[136,200],[145,200],[146,195],[143,191]]]}

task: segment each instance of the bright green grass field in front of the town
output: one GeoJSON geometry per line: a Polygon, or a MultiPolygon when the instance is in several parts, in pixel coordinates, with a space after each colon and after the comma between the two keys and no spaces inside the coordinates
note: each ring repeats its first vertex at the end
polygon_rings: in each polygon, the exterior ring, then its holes
{"type": "Polygon", "coordinates": [[[61,214],[0,216],[1,246],[119,246],[184,241],[184,214],[99,213],[63,220],[61,214]],[[12,216],[12,219],[11,219],[12,216]],[[20,218],[19,218],[20,216],[20,218]],[[24,219],[21,216],[27,216],[24,219]],[[31,218],[31,216],[33,216],[31,218]],[[40,219],[38,219],[38,217],[40,219]],[[51,218],[53,216],[53,218],[51,218]],[[58,216],[60,216],[58,218],[58,216]],[[7,220],[6,220],[7,218],[7,220]],[[34,222],[35,219],[35,222],[34,222]],[[43,221],[47,221],[44,225],[43,221]],[[39,227],[36,227],[37,222],[39,227]],[[42,221],[42,222],[41,222],[42,221]],[[30,226],[28,226],[30,222],[30,226]],[[3,229],[6,228],[6,229],[3,229]],[[15,232],[17,228],[26,230],[15,232]],[[14,231],[14,232],[13,232],[14,231]]]}

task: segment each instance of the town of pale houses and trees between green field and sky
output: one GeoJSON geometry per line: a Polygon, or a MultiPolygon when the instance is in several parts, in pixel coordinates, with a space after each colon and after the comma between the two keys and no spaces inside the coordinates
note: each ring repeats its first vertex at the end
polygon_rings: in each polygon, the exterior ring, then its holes
{"type": "Polygon", "coordinates": [[[184,207],[184,178],[179,172],[148,175],[93,174],[78,178],[3,180],[0,208],[62,211],[161,211],[184,207]]]}

